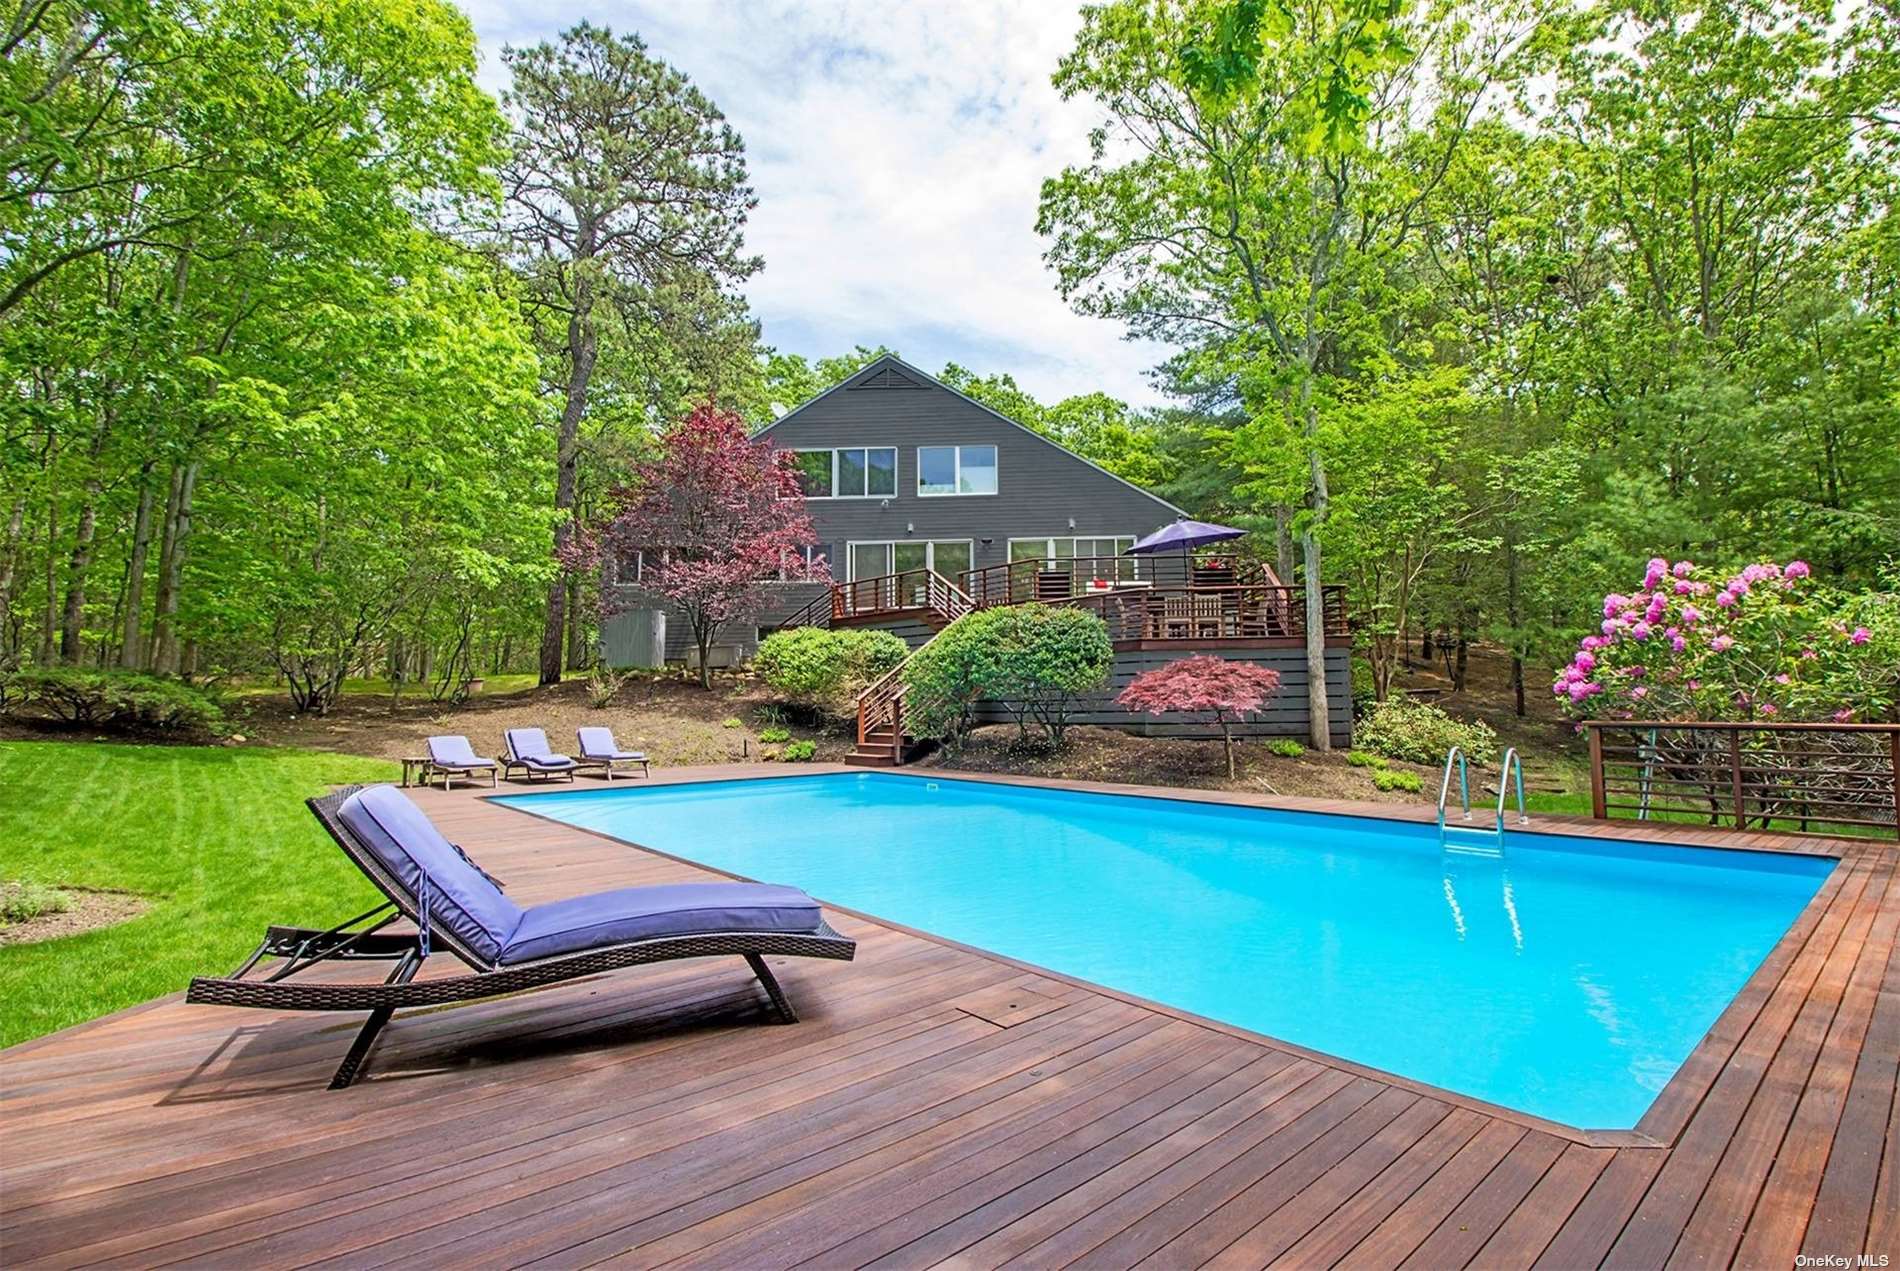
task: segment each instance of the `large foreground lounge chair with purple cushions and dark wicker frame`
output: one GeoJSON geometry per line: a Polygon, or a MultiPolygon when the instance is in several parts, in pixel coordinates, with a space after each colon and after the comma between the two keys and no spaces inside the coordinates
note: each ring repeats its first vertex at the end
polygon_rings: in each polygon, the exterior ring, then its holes
{"type": "Polygon", "coordinates": [[[310,800],[310,811],[388,897],[329,931],[270,927],[264,942],[224,978],[200,977],[186,1001],[266,1011],[369,1011],[331,1079],[340,1091],[363,1070],[393,1011],[517,994],[540,984],[674,958],[745,958],[777,1016],[798,1020],[766,967],[768,956],[851,961],[857,942],[826,925],[817,901],[764,883],[625,887],[521,908],[450,844],[422,809],[390,785],[348,787],[310,800]],[[384,927],[407,918],[412,933],[384,927]],[[473,969],[416,982],[433,950],[473,969]],[[264,958],[281,958],[251,978],[264,958]],[[293,980],[325,961],[395,961],[382,984],[293,980]]]}

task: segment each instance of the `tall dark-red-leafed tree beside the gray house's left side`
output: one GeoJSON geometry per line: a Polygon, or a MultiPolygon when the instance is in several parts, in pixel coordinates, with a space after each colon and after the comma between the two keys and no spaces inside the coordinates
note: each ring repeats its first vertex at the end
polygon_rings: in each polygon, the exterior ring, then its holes
{"type": "Polygon", "coordinates": [[[766,579],[826,578],[823,562],[806,562],[817,534],[792,454],[749,439],[737,414],[711,403],[661,433],[610,500],[581,551],[612,555],[623,570],[640,560],[640,589],[686,616],[705,688],[714,636],[760,608],[766,579]]]}

